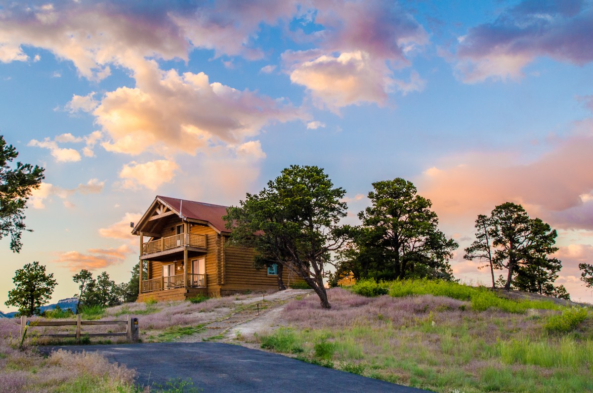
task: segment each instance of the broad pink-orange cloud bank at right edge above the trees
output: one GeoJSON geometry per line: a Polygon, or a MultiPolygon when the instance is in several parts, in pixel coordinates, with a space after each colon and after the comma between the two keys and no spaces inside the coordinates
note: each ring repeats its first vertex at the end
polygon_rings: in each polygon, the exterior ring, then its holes
{"type": "MultiPolygon", "coordinates": [[[[524,147],[522,147],[524,148],[524,147]]],[[[553,227],[593,230],[593,121],[525,162],[525,151],[474,151],[448,157],[416,181],[442,221],[471,225],[505,201],[524,205],[553,227]]],[[[473,226],[473,225],[472,225],[473,226]]]]}

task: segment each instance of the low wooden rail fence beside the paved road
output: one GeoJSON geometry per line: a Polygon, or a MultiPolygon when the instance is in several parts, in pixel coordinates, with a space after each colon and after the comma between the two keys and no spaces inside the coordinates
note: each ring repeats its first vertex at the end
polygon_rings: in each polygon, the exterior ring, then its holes
{"type": "Polygon", "coordinates": [[[79,341],[84,337],[126,337],[129,343],[138,341],[138,318],[132,318],[126,315],[125,321],[81,321],[80,315],[76,315],[76,321],[28,321],[26,316],[21,316],[21,337],[27,332],[28,327],[56,327],[56,326],[75,326],[75,333],[51,333],[40,334],[40,337],[54,338],[76,338],[79,341]],[[84,333],[83,326],[106,326],[106,325],[126,325],[125,332],[107,332],[107,333],[84,333]]]}

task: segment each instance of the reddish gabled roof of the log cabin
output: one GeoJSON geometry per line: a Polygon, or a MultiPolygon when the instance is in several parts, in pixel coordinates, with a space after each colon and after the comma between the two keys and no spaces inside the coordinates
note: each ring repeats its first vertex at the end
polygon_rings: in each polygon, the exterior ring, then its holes
{"type": "MultiPolygon", "coordinates": [[[[146,213],[138,221],[132,233],[142,232],[143,227],[148,223],[151,216],[158,214],[157,208],[159,205],[167,208],[162,210],[165,212],[164,214],[176,214],[183,220],[207,224],[218,233],[231,232],[225,228],[225,221],[222,219],[222,216],[227,214],[227,206],[157,195],[151,206],[146,210],[146,213]]],[[[164,214],[161,213],[161,215],[164,214]]]]}

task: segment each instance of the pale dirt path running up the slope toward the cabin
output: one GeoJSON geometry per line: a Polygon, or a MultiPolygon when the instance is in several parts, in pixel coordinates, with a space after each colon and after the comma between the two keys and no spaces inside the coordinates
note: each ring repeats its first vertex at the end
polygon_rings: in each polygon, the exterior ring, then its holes
{"type": "Polygon", "coordinates": [[[238,335],[253,335],[255,332],[281,324],[280,312],[289,300],[310,296],[311,289],[287,289],[263,296],[235,300],[236,305],[226,315],[205,322],[205,329],[196,334],[184,336],[179,342],[235,340],[238,335]]]}

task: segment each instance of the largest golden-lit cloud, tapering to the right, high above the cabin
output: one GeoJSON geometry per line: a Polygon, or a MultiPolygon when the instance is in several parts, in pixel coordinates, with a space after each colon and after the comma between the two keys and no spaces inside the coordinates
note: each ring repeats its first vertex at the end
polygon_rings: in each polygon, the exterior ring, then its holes
{"type": "Polygon", "coordinates": [[[273,122],[306,116],[291,105],[211,83],[203,72],[161,71],[155,62],[138,67],[136,87],[106,93],[95,122],[110,137],[109,151],[195,154],[211,144],[236,144],[273,122]]]}

